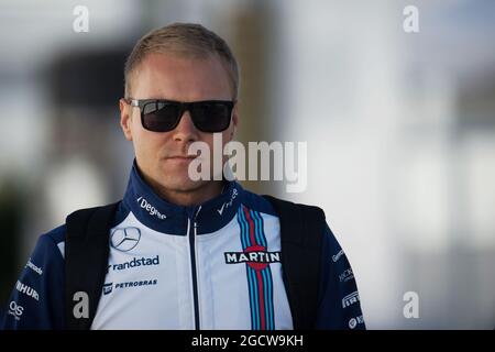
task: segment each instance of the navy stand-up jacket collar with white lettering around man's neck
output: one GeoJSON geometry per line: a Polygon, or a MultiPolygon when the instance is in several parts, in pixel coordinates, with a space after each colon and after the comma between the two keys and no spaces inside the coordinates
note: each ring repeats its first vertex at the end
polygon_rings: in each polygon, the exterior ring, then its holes
{"type": "Polygon", "coordinates": [[[241,204],[242,187],[226,182],[221,195],[202,205],[185,207],[161,198],[141,177],[134,161],[123,205],[146,227],[167,234],[186,235],[188,220],[196,221],[197,233],[210,233],[223,228],[235,216],[241,204]]]}

